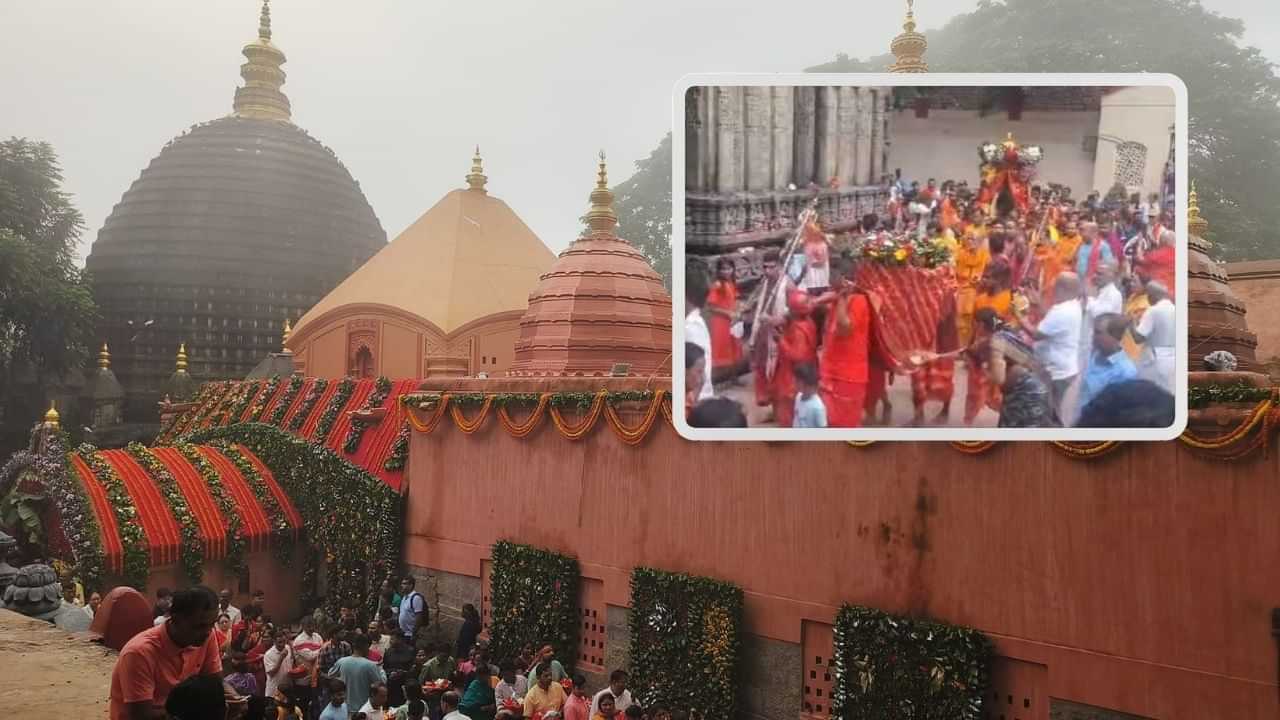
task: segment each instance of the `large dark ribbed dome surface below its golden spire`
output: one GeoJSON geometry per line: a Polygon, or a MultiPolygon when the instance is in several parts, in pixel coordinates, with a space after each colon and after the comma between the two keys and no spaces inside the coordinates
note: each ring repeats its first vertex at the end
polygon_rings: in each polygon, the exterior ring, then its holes
{"type": "Polygon", "coordinates": [[[360,184],[297,126],[193,126],[125,191],[87,260],[131,409],[154,415],[180,342],[197,378],[246,375],[279,350],[285,316],[385,243],[360,184]]]}

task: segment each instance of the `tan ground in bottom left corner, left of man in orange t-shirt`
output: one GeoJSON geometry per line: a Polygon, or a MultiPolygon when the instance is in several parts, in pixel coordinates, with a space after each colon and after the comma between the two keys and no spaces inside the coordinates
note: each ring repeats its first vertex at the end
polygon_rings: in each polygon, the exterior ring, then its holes
{"type": "Polygon", "coordinates": [[[82,634],[0,610],[4,716],[106,717],[115,657],[82,634]]]}

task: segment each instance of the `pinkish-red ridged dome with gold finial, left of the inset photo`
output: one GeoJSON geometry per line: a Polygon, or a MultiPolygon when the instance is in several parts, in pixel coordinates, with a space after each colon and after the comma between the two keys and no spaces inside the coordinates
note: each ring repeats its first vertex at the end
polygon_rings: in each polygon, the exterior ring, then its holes
{"type": "Polygon", "coordinates": [[[671,374],[671,295],[644,255],[616,233],[604,155],[588,232],[529,296],[509,375],[671,374]]]}

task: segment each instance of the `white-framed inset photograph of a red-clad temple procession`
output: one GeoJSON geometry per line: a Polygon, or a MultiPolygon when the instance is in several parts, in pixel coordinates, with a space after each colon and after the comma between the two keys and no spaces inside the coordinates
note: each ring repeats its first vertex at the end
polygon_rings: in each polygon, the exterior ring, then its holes
{"type": "Polygon", "coordinates": [[[1170,434],[1176,90],[689,87],[685,429],[1170,434]]]}

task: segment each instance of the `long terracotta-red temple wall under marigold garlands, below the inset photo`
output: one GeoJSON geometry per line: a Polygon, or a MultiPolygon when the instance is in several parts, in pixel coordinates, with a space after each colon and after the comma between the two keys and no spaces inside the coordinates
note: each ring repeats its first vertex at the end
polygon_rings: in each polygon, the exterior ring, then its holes
{"type": "MultiPolygon", "coordinates": [[[[667,427],[636,448],[603,428],[570,442],[495,424],[471,436],[445,424],[415,434],[411,452],[408,564],[479,579],[497,539],[568,552],[599,582],[611,626],[612,609],[630,605],[631,569],[649,565],[741,585],[745,629],[769,652],[799,646],[808,660],[854,602],[988,633],[1016,670],[1000,675],[1009,696],[1161,719],[1280,711],[1274,454],[1222,464],[1178,443],[1098,461],[1047,443],[977,457],[938,445],[730,447],[667,427]]],[[[622,639],[609,637],[607,657],[622,639]]],[[[780,671],[771,692],[795,692],[801,678],[780,671]]]]}

